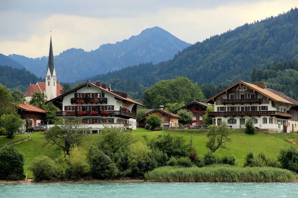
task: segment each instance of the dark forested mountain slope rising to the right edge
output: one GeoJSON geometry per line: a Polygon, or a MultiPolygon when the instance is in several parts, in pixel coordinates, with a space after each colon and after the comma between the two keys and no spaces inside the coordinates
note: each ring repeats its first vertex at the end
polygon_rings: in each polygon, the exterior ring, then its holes
{"type": "MultiPolygon", "coordinates": [[[[141,88],[162,79],[188,77],[192,82],[218,85],[239,79],[250,81],[253,67],[263,68],[274,60],[298,58],[298,9],[244,24],[178,52],[173,59],[146,63],[95,75],[89,80],[115,82],[114,89],[140,95],[141,88]],[[128,81],[135,86],[129,86],[128,81]]],[[[87,79],[85,79],[87,80],[87,79]]]]}

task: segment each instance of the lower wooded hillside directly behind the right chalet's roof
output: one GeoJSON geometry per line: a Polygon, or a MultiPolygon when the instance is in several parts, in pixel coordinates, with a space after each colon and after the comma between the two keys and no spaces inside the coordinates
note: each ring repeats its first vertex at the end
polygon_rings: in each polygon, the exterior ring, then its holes
{"type": "Polygon", "coordinates": [[[280,91],[298,100],[298,61],[274,61],[262,69],[253,68],[251,79],[253,82],[265,81],[266,87],[280,91]]]}

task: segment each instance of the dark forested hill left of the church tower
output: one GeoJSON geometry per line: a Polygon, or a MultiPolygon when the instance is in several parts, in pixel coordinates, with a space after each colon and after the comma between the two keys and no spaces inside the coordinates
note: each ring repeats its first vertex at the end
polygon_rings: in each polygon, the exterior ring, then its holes
{"type": "Polygon", "coordinates": [[[26,92],[30,83],[36,84],[38,81],[44,82],[45,80],[37,78],[25,68],[17,69],[0,65],[0,84],[10,90],[18,89],[26,92]]]}

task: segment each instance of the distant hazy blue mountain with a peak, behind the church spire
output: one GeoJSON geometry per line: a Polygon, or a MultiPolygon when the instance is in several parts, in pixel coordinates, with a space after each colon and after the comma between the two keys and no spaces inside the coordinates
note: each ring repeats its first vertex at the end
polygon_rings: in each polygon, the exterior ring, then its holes
{"type": "MultiPolygon", "coordinates": [[[[55,42],[55,41],[53,41],[55,42]]],[[[68,49],[54,57],[56,73],[60,81],[74,82],[94,74],[118,70],[144,62],[158,63],[173,58],[174,54],[190,44],[174,37],[169,32],[153,27],[140,35],[116,44],[106,44],[90,52],[83,49],[68,49]]],[[[54,46],[55,50],[55,46],[54,46]]],[[[40,77],[47,69],[47,57],[28,58],[11,54],[25,68],[40,77]]]]}

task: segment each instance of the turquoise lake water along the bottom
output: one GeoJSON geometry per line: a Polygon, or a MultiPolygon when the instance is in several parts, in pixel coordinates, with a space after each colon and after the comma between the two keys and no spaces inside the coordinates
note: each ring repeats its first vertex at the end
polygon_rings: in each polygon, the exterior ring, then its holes
{"type": "Polygon", "coordinates": [[[0,184],[0,198],[298,198],[298,183],[0,184]]]}

